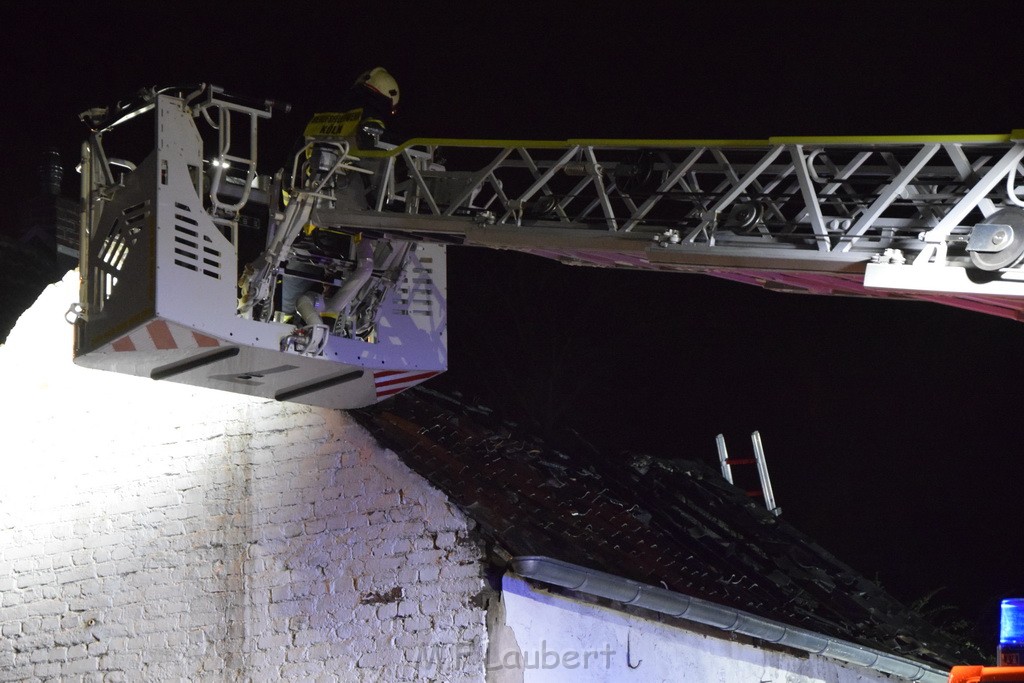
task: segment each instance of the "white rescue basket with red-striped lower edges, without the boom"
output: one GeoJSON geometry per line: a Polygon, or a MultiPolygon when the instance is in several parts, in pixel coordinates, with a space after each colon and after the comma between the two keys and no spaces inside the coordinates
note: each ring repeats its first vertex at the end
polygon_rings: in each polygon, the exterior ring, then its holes
{"type": "MultiPolygon", "coordinates": [[[[269,221],[261,226],[260,214],[275,204],[272,182],[255,172],[256,121],[272,108],[209,89],[146,99],[114,122],[148,119],[156,143],[140,162],[105,156],[118,126],[84,145],[77,364],[330,408],[371,404],[446,368],[444,252],[436,245],[410,245],[392,272],[365,283],[365,296],[378,295],[369,340],[329,334],[316,352],[303,352],[308,340],[295,325],[241,314],[240,250],[247,239],[265,241],[269,221]],[[221,135],[204,158],[198,125],[210,119],[229,135],[231,118],[251,123],[252,148],[236,152],[237,140],[221,135]]],[[[343,259],[334,265],[344,272],[343,259]]]]}

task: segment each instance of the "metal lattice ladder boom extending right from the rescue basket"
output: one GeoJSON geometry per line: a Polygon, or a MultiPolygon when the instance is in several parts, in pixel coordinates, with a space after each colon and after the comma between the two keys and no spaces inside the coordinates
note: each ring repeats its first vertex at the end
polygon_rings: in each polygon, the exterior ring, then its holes
{"type": "Polygon", "coordinates": [[[376,209],[318,224],[1019,319],[1024,131],[767,140],[412,140],[376,209]],[[438,156],[443,170],[433,167],[438,156]],[[399,173],[409,178],[397,182],[399,173]],[[408,196],[401,213],[386,210],[408,196]]]}

